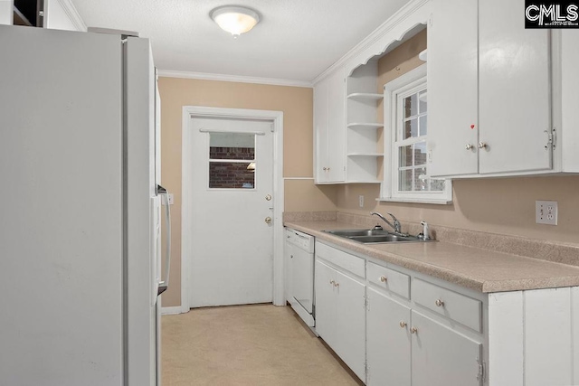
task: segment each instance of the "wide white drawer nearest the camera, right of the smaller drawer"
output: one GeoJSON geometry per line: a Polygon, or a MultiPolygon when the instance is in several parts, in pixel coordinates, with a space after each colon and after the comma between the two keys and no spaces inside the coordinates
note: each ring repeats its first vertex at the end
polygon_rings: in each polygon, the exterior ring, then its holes
{"type": "Polygon", "coordinates": [[[425,306],[475,331],[482,331],[482,303],[477,299],[435,286],[419,278],[413,280],[412,297],[416,304],[425,306]]]}

